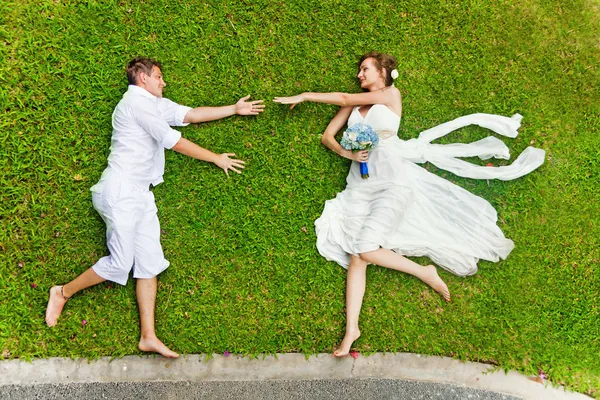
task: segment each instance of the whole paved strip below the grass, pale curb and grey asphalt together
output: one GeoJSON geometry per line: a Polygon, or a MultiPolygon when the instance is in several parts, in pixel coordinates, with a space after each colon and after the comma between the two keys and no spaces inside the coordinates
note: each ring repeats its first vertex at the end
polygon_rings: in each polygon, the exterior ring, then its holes
{"type": "Polygon", "coordinates": [[[407,353],[341,360],[329,354],[8,360],[0,361],[0,398],[589,399],[516,372],[490,371],[485,364],[407,353]]]}

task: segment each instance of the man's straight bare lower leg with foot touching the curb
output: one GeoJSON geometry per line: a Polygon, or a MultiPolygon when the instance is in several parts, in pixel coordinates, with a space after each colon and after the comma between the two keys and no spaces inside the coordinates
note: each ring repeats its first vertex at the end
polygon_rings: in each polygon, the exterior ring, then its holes
{"type": "Polygon", "coordinates": [[[154,308],[156,305],[157,279],[137,279],[135,293],[140,309],[141,337],[138,348],[141,351],[152,351],[165,357],[177,358],[179,354],[169,350],[154,332],[154,308]]]}

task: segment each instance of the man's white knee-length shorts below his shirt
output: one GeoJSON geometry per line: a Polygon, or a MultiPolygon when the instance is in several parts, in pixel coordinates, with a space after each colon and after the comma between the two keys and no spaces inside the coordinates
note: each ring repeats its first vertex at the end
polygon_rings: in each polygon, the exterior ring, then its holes
{"type": "Polygon", "coordinates": [[[160,245],[160,224],[154,193],[123,179],[108,179],[92,192],[94,208],[106,223],[110,255],[92,267],[100,277],[120,285],[134,278],[154,278],[167,269],[160,245]]]}

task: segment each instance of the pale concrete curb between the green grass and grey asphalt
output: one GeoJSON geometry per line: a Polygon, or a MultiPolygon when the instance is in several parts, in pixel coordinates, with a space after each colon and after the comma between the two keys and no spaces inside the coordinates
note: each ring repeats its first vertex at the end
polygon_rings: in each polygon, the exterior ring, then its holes
{"type": "Polygon", "coordinates": [[[0,361],[0,385],[88,382],[257,381],[378,378],[453,384],[510,394],[525,399],[589,399],[562,387],[544,386],[511,371],[447,357],[377,353],[357,359],[318,354],[278,354],[259,359],[187,355],[177,360],[154,356],[103,357],[95,361],[68,358],[0,361]]]}

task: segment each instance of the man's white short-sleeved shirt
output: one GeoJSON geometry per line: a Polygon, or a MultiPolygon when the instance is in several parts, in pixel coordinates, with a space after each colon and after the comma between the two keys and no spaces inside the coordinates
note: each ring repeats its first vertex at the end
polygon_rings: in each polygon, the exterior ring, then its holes
{"type": "Polygon", "coordinates": [[[181,133],[171,126],[188,125],[183,120],[189,110],[190,107],[129,85],[112,115],[108,166],[91,190],[100,192],[103,182],[110,178],[127,179],[146,187],[163,182],[164,149],[172,148],[181,139],[181,133]]]}

